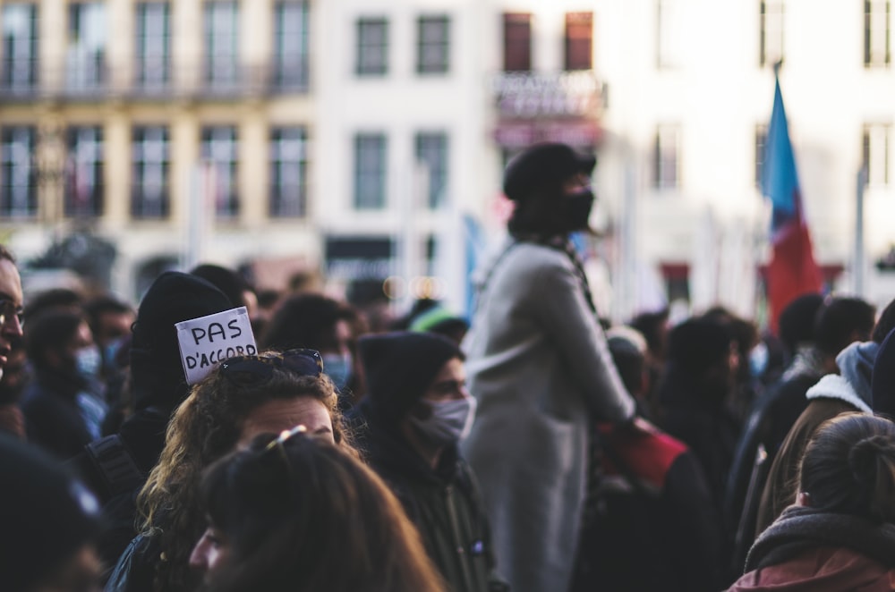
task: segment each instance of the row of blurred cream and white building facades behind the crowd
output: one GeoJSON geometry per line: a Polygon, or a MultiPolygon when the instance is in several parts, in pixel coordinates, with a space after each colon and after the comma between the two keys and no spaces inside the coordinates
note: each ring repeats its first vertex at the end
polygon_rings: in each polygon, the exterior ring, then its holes
{"type": "Polygon", "coordinates": [[[470,224],[496,235],[507,216],[507,159],[560,140],[598,155],[604,313],[686,300],[752,316],[769,254],[756,181],[780,60],[827,280],[878,302],[895,292],[873,265],[895,241],[891,0],[40,0],[0,11],[0,228],[28,254],[48,230],[89,225],[119,249],[124,293],[174,262],[262,260],[374,291],[401,277],[393,296],[462,305],[470,224]],[[411,285],[425,278],[439,279],[411,285]]]}

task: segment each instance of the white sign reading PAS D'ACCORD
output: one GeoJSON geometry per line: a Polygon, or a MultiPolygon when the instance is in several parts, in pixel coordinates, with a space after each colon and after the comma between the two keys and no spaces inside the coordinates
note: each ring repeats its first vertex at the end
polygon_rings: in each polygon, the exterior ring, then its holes
{"type": "Polygon", "coordinates": [[[186,382],[195,385],[227,358],[258,353],[245,307],[175,324],[186,382]]]}

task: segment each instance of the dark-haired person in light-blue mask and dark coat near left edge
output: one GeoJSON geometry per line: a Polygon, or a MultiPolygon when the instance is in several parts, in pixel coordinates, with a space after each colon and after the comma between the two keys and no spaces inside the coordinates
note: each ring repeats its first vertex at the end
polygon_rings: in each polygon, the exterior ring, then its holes
{"type": "Polygon", "coordinates": [[[33,318],[25,350],[34,374],[22,395],[28,439],[65,461],[100,436],[106,403],[99,351],[81,313],[48,309],[33,318]]]}

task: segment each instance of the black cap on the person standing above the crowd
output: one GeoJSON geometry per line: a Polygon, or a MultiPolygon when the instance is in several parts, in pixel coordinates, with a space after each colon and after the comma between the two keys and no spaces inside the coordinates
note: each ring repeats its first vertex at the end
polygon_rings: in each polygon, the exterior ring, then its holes
{"type": "Polygon", "coordinates": [[[510,161],[504,173],[504,194],[518,201],[577,173],[590,174],[596,165],[594,156],[575,152],[566,144],[534,144],[510,161]]]}

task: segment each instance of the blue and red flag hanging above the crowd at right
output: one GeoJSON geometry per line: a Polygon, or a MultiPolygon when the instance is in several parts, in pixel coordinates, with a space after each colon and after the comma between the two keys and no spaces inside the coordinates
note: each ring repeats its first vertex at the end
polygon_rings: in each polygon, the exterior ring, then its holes
{"type": "Polygon", "coordinates": [[[780,311],[807,292],[821,291],[821,270],[814,262],[811,234],[805,223],[796,159],[789,141],[780,78],[774,88],[771,124],[765,142],[762,193],[771,199],[773,253],[766,275],[771,331],[777,331],[780,311]]]}

